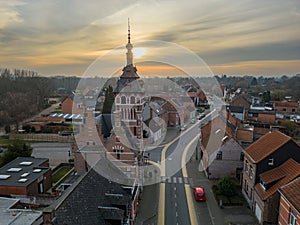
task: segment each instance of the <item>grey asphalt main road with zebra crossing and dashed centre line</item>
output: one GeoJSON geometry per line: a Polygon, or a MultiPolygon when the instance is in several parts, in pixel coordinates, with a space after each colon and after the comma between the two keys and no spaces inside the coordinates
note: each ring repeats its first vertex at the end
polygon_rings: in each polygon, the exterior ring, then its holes
{"type": "MultiPolygon", "coordinates": [[[[164,187],[164,224],[172,225],[190,225],[195,224],[197,221],[191,223],[191,216],[189,212],[189,206],[187,201],[187,189],[186,185],[189,184],[187,177],[183,176],[182,172],[182,158],[185,148],[188,144],[200,133],[201,125],[205,124],[214,115],[214,111],[211,115],[203,118],[194,125],[189,125],[190,128],[187,128],[186,131],[182,131],[180,138],[174,141],[165,152],[165,162],[162,160],[163,148],[158,147],[156,149],[149,150],[150,153],[149,159],[163,164],[165,163],[165,176],[162,178],[165,184],[164,187]]],[[[193,152],[189,152],[186,160],[189,161],[189,157],[193,152]]],[[[188,186],[190,188],[190,186],[188,186]]],[[[196,203],[196,202],[195,202],[196,203]]],[[[189,203],[190,204],[190,203],[189,203]]],[[[192,205],[192,207],[194,207],[192,205]]],[[[190,207],[191,208],[191,207],[190,207]]],[[[209,219],[209,213],[206,204],[202,204],[201,214],[197,213],[199,218],[203,216],[200,224],[211,224],[209,219]]],[[[162,210],[162,209],[159,209],[162,210]]],[[[198,219],[199,220],[199,219],[198,219]]]]}

